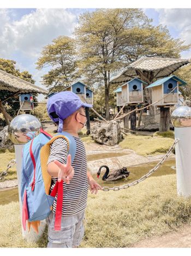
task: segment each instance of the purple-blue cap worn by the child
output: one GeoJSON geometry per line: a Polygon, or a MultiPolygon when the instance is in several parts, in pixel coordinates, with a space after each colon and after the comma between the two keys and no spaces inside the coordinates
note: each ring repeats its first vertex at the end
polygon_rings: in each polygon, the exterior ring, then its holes
{"type": "Polygon", "coordinates": [[[58,133],[63,130],[63,120],[80,107],[92,107],[92,105],[83,103],[79,96],[73,92],[56,93],[47,100],[47,112],[51,120],[59,122],[58,133]]]}

